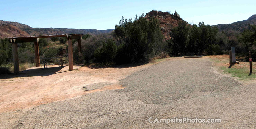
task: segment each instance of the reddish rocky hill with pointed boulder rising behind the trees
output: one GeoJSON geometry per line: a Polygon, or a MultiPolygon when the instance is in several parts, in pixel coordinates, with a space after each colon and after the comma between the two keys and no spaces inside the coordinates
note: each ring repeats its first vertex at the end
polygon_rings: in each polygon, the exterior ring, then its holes
{"type": "MultiPolygon", "coordinates": [[[[145,15],[144,18],[147,18],[148,20],[151,17],[155,17],[158,19],[160,23],[161,31],[166,39],[170,39],[170,35],[168,35],[167,30],[171,27],[178,26],[178,23],[182,21],[182,18],[179,17],[177,13],[170,14],[169,12],[161,12],[161,11],[151,11],[145,15]]],[[[188,22],[187,22],[188,23],[188,22]]]]}

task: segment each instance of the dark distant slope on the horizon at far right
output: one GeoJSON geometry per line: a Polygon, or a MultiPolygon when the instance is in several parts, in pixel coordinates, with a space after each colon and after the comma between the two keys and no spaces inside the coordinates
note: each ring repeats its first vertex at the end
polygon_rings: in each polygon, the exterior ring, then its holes
{"type": "Polygon", "coordinates": [[[218,24],[218,25],[213,25],[219,28],[219,31],[229,31],[229,30],[234,30],[234,31],[240,31],[243,32],[245,29],[250,28],[250,24],[256,25],[256,14],[252,15],[249,17],[247,20],[243,21],[237,21],[231,24],[218,24]]]}

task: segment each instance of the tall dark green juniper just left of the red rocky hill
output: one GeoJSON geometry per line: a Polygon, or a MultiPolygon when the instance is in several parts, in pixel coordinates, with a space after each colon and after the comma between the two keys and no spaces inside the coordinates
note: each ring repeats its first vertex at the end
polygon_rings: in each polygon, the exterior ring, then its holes
{"type": "Polygon", "coordinates": [[[156,18],[147,20],[142,14],[132,19],[122,19],[115,27],[115,34],[120,39],[118,43],[117,64],[148,62],[157,44],[163,36],[156,18]]]}

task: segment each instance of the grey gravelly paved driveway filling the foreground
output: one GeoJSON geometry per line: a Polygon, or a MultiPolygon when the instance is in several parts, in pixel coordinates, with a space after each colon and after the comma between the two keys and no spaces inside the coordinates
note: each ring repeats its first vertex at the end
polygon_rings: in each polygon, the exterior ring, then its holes
{"type": "MultiPolygon", "coordinates": [[[[41,105],[13,128],[256,128],[256,86],[219,74],[207,58],[167,60],[120,80],[125,89],[41,105]],[[221,118],[149,123],[148,118],[221,118]]],[[[82,87],[81,87],[82,88],[82,87]]]]}

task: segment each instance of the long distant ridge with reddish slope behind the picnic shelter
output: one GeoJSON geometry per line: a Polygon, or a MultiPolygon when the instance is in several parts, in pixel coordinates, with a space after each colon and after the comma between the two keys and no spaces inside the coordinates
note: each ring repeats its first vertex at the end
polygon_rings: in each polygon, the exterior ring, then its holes
{"type": "Polygon", "coordinates": [[[114,29],[96,30],[96,29],[68,29],[68,28],[33,28],[19,22],[10,22],[0,20],[0,38],[20,37],[20,36],[38,36],[38,35],[56,35],[56,34],[91,34],[97,35],[109,33],[114,29]]]}

